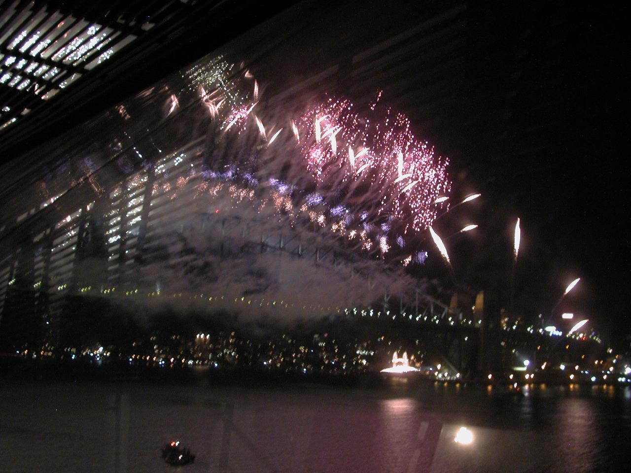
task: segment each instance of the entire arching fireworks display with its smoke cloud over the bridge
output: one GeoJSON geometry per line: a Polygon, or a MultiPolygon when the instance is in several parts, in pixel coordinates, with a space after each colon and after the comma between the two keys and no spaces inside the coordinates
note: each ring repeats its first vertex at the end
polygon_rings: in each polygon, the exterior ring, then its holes
{"type": "MultiPolygon", "coordinates": [[[[98,214],[109,279],[97,284],[102,275],[82,273],[91,281],[82,292],[103,287],[109,294],[115,287],[110,279],[134,294],[159,294],[164,284],[174,294],[228,287],[230,300],[248,296],[253,303],[257,294],[284,300],[286,308],[298,307],[288,299],[305,299],[307,292],[313,300],[306,305],[319,308],[318,301],[331,300],[339,287],[348,290],[331,307],[371,303],[375,291],[409,293],[413,281],[403,267],[428,257],[416,235],[448,207],[447,160],[414,136],[403,114],[377,102],[363,109],[320,96],[298,106],[263,92],[244,66],[218,57],[95,120],[93,139],[75,156],[78,173],[73,156],[60,156],[33,202],[33,212],[54,204],[64,216],[55,224],[59,242],[50,249],[50,291],[61,300],[78,248],[78,222],[98,214]],[[228,250],[222,240],[215,248],[217,238],[240,246],[228,250]],[[286,259],[281,268],[277,257],[261,250],[254,252],[255,274],[251,253],[229,258],[252,247],[309,255],[316,264],[286,259]],[[164,264],[151,257],[139,263],[139,255],[158,252],[172,257],[164,264]],[[206,281],[201,261],[222,279],[206,281]],[[122,276],[131,264],[134,272],[124,274],[141,274],[138,281],[122,276]],[[288,273],[300,277],[286,280],[288,273]]],[[[35,277],[44,277],[42,271],[35,277]]]]}

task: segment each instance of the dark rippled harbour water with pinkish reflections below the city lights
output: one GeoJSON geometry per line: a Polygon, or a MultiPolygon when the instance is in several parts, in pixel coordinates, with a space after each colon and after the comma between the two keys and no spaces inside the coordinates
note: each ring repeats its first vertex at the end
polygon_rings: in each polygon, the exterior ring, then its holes
{"type": "Polygon", "coordinates": [[[0,382],[0,470],[23,472],[617,472],[631,389],[0,382]],[[466,428],[469,444],[454,441],[466,428]],[[160,448],[196,455],[169,467],[160,448]]]}

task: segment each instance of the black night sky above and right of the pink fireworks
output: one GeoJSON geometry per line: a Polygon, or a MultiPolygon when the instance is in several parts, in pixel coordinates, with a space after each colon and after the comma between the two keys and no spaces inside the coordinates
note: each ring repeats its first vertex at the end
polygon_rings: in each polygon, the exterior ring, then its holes
{"type": "MultiPolygon", "coordinates": [[[[625,11],[570,2],[399,6],[305,9],[293,18],[290,40],[262,54],[255,69],[262,78],[268,71],[274,91],[341,64],[336,92],[365,102],[383,90],[382,100],[449,156],[452,201],[483,194],[436,224],[441,235],[480,225],[447,243],[460,284],[509,305],[519,217],[514,312],[549,317],[567,284],[581,277],[556,317],[574,312],[601,332],[630,333],[621,164],[625,11]],[[369,73],[345,76],[354,54],[419,25],[427,26],[387,45],[369,73]]],[[[431,243],[423,245],[437,256],[431,243]]],[[[422,276],[447,279],[434,260],[422,276]]]]}

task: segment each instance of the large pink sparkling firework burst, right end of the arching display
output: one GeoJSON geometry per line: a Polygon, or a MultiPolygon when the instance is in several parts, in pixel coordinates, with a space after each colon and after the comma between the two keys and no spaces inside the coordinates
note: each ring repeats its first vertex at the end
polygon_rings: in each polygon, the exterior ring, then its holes
{"type": "Polygon", "coordinates": [[[329,98],[307,110],[297,120],[307,169],[322,187],[360,189],[378,215],[424,230],[437,216],[436,199],[451,190],[449,160],[414,136],[405,115],[370,109],[363,116],[349,100],[329,98]]]}

